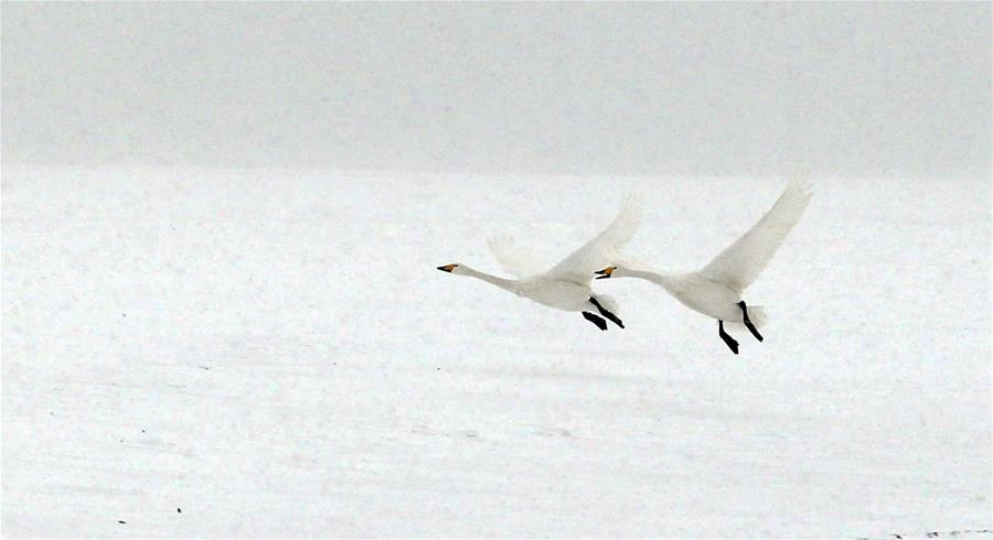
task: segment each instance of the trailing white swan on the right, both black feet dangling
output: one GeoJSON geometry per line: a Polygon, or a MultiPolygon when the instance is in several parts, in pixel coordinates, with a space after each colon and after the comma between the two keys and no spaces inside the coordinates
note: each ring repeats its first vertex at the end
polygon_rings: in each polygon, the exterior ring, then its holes
{"type": "Polygon", "coordinates": [[[741,292],[766,268],[809,203],[809,184],[804,177],[793,179],[772,208],[703,269],[671,274],[634,268],[630,262],[616,263],[596,272],[597,279],[641,278],[661,285],[686,307],[716,318],[718,335],[738,354],[738,342],[724,331],[724,323],[744,323],[756,339],[762,341],[757,326],[765,322],[765,311],[746,305],[741,292]]]}

